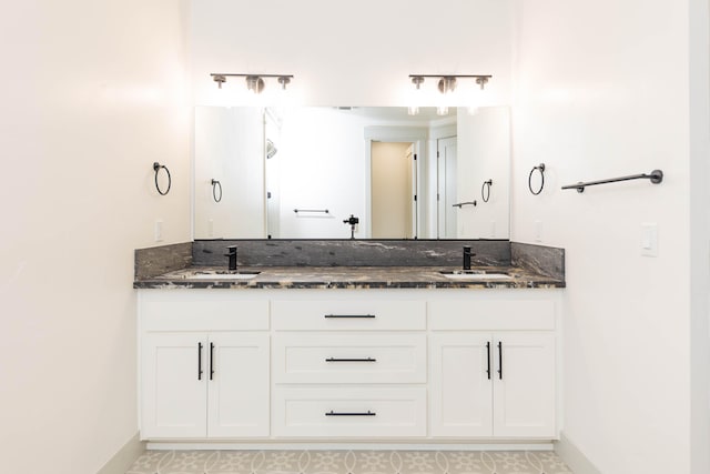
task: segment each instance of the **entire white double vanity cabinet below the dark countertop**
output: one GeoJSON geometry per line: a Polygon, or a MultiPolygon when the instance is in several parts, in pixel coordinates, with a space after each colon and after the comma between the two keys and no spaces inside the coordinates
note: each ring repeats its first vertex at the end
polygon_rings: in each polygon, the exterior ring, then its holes
{"type": "Polygon", "coordinates": [[[143,440],[558,436],[557,290],[139,292],[143,440]]]}

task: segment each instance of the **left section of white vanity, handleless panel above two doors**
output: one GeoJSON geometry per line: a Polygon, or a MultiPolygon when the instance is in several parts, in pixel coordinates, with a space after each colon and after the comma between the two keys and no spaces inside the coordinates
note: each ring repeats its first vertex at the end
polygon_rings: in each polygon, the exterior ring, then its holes
{"type": "Polygon", "coordinates": [[[141,436],[268,436],[268,303],[192,296],[141,294],[141,436]]]}

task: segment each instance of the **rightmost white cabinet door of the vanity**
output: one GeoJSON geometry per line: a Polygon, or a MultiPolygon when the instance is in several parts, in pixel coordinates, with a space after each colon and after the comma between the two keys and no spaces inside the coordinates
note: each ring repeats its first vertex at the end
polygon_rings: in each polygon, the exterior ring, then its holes
{"type": "Polygon", "coordinates": [[[494,435],[555,437],[555,336],[500,333],[494,342],[494,435]]]}

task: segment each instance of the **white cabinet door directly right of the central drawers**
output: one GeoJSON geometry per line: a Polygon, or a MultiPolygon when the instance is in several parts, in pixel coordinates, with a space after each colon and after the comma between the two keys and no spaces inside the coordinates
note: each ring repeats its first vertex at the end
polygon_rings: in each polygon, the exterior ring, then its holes
{"type": "Polygon", "coordinates": [[[493,434],[490,334],[430,335],[432,436],[493,434]]]}

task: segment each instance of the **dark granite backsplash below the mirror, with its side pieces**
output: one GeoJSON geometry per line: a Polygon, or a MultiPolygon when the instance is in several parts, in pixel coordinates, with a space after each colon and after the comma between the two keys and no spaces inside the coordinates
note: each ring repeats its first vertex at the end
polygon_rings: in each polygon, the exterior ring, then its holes
{"type": "Polygon", "coordinates": [[[135,280],[190,266],[459,266],[471,248],[474,266],[518,266],[565,280],[565,250],[507,240],[196,240],[135,251],[135,280]]]}

